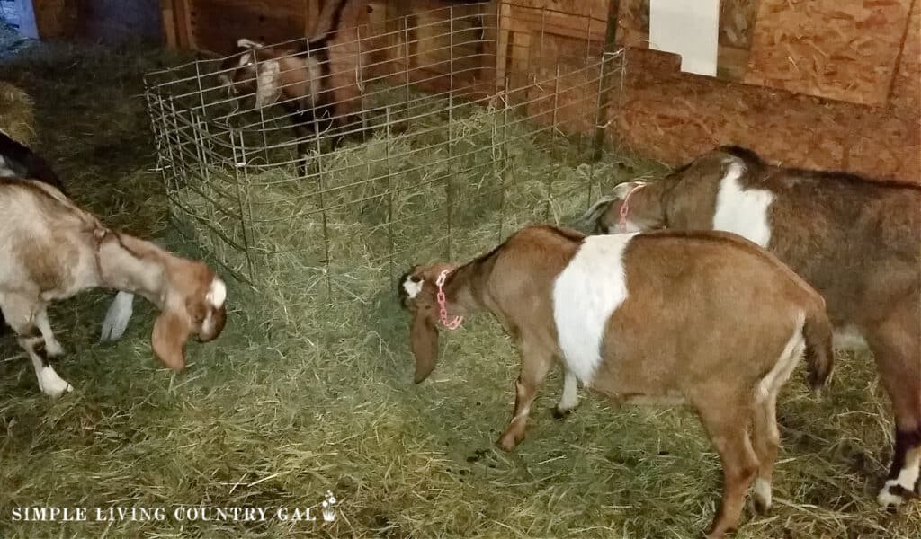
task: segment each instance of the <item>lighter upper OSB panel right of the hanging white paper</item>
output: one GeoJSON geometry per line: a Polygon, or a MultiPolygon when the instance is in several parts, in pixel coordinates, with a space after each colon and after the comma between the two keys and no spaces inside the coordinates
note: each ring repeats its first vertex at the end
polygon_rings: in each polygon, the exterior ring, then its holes
{"type": "Polygon", "coordinates": [[[912,0],[762,0],[745,82],[882,105],[912,0]]]}

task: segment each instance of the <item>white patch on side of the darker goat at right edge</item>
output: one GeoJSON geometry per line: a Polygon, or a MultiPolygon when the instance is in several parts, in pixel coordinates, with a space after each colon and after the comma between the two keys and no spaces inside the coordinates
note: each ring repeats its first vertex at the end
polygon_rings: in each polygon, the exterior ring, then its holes
{"type": "Polygon", "coordinates": [[[739,160],[729,160],[729,170],[719,180],[713,229],[738,234],[766,248],[771,241],[767,212],[775,194],[766,189],[742,189],[739,178],[744,173],[745,166],[739,160]]]}

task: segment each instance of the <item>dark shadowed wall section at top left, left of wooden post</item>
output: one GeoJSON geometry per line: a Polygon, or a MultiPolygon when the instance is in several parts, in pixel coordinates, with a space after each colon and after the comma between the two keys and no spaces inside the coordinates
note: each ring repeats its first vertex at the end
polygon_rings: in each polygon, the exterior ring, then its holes
{"type": "Polygon", "coordinates": [[[159,0],[32,0],[41,39],[162,40],[159,0]]]}

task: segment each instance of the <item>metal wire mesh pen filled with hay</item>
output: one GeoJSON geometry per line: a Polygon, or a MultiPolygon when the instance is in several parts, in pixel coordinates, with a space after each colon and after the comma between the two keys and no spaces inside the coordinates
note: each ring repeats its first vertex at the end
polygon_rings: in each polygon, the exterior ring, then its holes
{"type": "MultiPolygon", "coordinates": [[[[320,87],[353,120],[335,128],[285,106],[297,89],[262,108],[231,95],[223,58],[148,74],[170,215],[245,281],[292,263],[332,291],[357,267],[392,279],[587,204],[624,68],[605,15],[493,2],[341,30],[307,52],[331,59],[320,87]]],[[[267,46],[302,61],[305,41],[267,46]]]]}

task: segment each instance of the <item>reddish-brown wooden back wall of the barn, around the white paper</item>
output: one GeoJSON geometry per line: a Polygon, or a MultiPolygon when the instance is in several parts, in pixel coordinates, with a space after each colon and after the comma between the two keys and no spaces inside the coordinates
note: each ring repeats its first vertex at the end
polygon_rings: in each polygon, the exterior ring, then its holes
{"type": "MultiPolygon", "coordinates": [[[[164,3],[178,11],[175,29],[181,36],[186,25],[189,46],[230,52],[239,37],[303,36],[322,1],[164,3]]],[[[369,76],[408,77],[436,92],[527,87],[513,98],[531,116],[570,132],[594,128],[599,74],[585,65],[602,50],[607,0],[464,4],[351,1],[347,24],[360,26],[369,76]],[[452,25],[449,14],[461,18],[452,25]]],[[[622,0],[618,41],[631,47],[609,132],[671,164],[738,143],[793,166],[921,183],[919,4],[724,0],[721,71],[711,78],[682,74],[677,56],[644,48],[648,0],[622,0]]]]}

